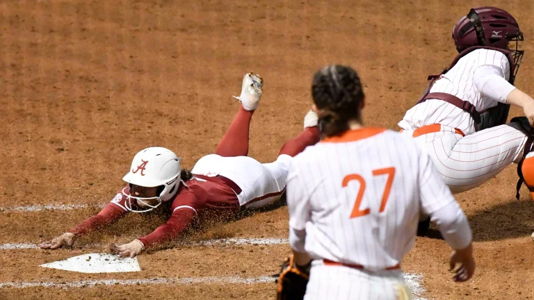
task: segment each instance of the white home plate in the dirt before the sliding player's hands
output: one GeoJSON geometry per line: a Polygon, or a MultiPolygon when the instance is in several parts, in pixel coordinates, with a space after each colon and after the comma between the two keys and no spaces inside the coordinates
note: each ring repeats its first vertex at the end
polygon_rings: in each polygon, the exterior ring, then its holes
{"type": "Polygon", "coordinates": [[[141,270],[137,258],[120,258],[109,253],[83,254],[54,263],[46,263],[40,267],[81,273],[139,272],[141,270]]]}

